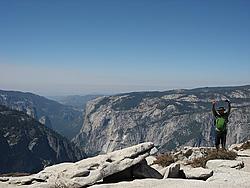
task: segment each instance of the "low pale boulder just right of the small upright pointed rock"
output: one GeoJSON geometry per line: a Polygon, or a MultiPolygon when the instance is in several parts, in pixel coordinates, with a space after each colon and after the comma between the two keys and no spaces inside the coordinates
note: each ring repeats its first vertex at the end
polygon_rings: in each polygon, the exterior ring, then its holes
{"type": "Polygon", "coordinates": [[[183,168],[183,172],[187,179],[207,180],[213,175],[213,171],[202,167],[183,168]]]}

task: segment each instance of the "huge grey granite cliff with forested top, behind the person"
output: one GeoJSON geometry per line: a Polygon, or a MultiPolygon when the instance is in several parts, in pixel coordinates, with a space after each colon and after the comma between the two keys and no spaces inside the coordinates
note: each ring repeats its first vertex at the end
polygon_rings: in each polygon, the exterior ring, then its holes
{"type": "Polygon", "coordinates": [[[160,151],[183,145],[211,146],[214,143],[211,100],[226,98],[233,106],[227,143],[249,139],[250,86],[242,86],[98,98],[88,103],[84,124],[74,142],[92,155],[145,141],[154,142],[160,151]]]}

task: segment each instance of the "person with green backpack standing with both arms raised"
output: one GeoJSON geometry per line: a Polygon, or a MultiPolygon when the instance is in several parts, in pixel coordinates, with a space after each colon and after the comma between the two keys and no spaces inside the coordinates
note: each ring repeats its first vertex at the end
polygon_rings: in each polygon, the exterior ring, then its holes
{"type": "Polygon", "coordinates": [[[215,116],[215,128],[216,128],[216,135],[215,135],[215,146],[218,150],[220,147],[220,144],[222,145],[222,149],[226,149],[226,136],[227,136],[227,123],[228,123],[228,117],[231,112],[231,103],[227,99],[225,102],[228,103],[228,110],[224,107],[219,107],[218,110],[215,109],[216,101],[212,101],[213,107],[213,115],[215,116]]]}

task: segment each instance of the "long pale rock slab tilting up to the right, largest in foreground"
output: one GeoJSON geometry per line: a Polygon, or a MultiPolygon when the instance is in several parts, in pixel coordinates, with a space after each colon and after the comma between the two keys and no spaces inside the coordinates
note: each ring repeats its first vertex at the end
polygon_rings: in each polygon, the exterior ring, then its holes
{"type": "Polygon", "coordinates": [[[153,147],[154,144],[151,142],[142,143],[75,163],[53,165],[34,175],[11,177],[4,181],[8,184],[30,187],[34,184],[39,185],[38,187],[84,187],[140,163],[149,156],[153,147]]]}

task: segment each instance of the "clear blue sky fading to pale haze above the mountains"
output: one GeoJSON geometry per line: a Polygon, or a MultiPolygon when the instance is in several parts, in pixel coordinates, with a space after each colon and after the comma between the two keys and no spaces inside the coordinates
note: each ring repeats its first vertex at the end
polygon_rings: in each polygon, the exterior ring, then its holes
{"type": "Polygon", "coordinates": [[[0,0],[0,89],[250,84],[249,0],[0,0]]]}

